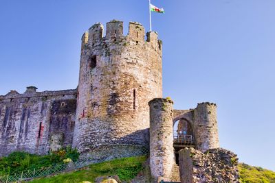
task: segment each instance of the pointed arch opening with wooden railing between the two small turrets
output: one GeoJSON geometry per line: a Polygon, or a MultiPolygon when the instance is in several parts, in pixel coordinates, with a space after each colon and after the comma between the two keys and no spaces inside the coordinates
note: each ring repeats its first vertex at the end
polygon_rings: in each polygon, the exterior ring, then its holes
{"type": "Polygon", "coordinates": [[[185,147],[195,148],[195,134],[192,123],[186,119],[179,119],[173,125],[173,147],[175,149],[175,159],[179,164],[179,150],[185,147]]]}

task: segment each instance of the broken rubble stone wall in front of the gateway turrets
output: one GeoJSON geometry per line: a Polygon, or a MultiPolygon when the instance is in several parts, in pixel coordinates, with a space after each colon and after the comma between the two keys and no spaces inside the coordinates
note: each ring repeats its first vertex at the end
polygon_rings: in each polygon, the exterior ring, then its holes
{"type": "Polygon", "coordinates": [[[181,149],[179,172],[181,183],[239,182],[236,154],[221,148],[204,154],[193,148],[181,149]]]}

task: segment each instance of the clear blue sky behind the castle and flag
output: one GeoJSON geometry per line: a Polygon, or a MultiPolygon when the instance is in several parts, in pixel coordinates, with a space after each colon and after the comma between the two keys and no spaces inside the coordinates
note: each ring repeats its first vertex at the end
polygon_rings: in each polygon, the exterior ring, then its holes
{"type": "MultiPolygon", "coordinates": [[[[164,97],[218,105],[221,147],[275,171],[275,1],[152,0],[163,40],[164,97]]],[[[0,0],[0,95],[76,88],[80,38],[96,22],[138,21],[146,0],[0,0]]]]}

